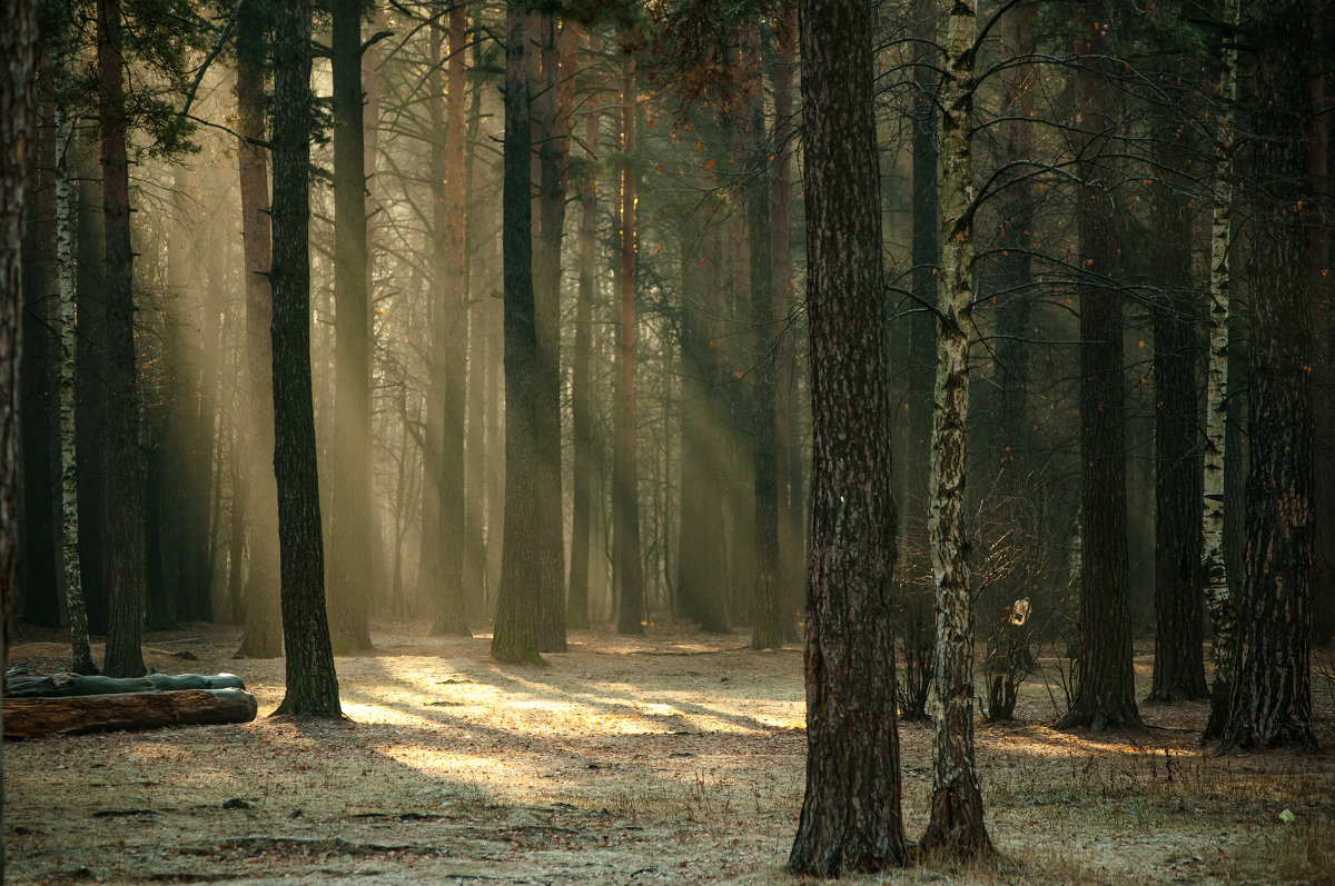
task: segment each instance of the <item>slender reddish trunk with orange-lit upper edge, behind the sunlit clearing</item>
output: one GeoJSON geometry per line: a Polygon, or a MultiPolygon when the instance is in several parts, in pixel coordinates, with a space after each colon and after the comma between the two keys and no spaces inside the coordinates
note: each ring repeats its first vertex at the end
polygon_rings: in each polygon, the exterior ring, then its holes
{"type": "Polygon", "coordinates": [[[617,610],[618,634],[643,634],[645,579],[639,555],[639,490],[635,467],[635,55],[630,33],[622,33],[621,47],[621,165],[617,224],[621,232],[621,267],[617,295],[621,316],[617,323],[617,419],[613,450],[613,548],[621,599],[617,610]]]}

